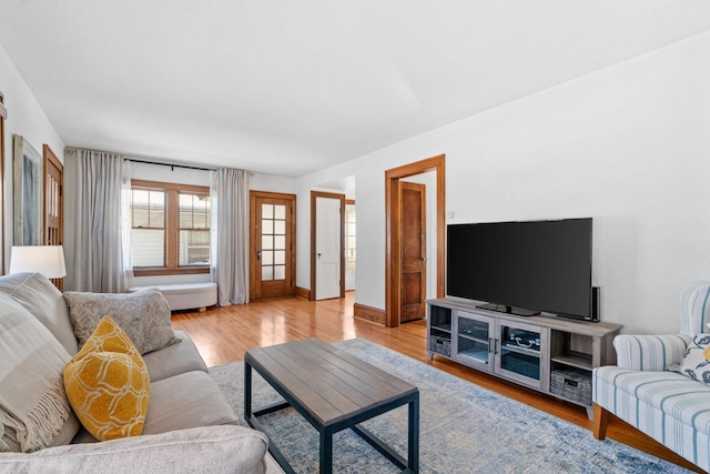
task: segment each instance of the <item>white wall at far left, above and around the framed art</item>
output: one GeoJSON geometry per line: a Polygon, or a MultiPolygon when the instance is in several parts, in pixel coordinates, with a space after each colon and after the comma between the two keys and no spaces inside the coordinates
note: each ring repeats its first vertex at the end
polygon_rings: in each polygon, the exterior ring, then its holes
{"type": "Polygon", "coordinates": [[[19,134],[42,154],[42,145],[48,144],[63,162],[64,143],[49,122],[47,114],[37,102],[34,94],[20,75],[6,50],[0,46],[0,91],[4,94],[8,109],[4,147],[4,262],[10,268],[10,249],[13,234],[12,212],[12,135],[19,134]]]}

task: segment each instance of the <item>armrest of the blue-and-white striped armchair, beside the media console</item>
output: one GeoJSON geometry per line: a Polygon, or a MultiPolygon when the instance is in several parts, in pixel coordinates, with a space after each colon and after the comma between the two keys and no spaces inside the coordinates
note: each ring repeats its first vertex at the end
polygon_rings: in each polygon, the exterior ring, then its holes
{"type": "Polygon", "coordinates": [[[684,334],[629,335],[613,339],[617,365],[632,371],[665,371],[680,364],[692,337],[684,334]]]}

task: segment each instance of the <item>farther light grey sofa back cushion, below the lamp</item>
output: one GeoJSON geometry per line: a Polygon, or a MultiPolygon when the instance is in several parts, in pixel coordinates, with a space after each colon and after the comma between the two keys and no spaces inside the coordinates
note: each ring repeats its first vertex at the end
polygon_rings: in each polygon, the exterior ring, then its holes
{"type": "Polygon", "coordinates": [[[69,355],[74,355],[79,351],[67,303],[61,292],[47,276],[41,273],[14,273],[0,276],[0,292],[20,303],[44,324],[69,355]]]}

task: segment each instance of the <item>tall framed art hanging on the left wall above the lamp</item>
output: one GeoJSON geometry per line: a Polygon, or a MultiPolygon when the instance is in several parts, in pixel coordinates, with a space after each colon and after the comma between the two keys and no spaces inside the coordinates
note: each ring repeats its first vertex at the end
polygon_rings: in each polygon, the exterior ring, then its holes
{"type": "Polygon", "coordinates": [[[42,157],[14,135],[14,245],[42,244],[42,157]]]}

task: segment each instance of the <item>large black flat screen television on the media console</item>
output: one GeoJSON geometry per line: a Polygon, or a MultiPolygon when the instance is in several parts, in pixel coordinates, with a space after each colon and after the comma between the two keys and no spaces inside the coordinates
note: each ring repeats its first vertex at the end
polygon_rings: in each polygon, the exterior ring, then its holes
{"type": "Polygon", "coordinates": [[[514,314],[597,321],[592,220],[447,225],[446,292],[514,314]]]}

